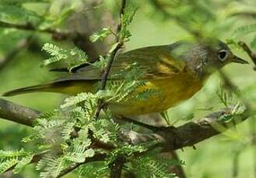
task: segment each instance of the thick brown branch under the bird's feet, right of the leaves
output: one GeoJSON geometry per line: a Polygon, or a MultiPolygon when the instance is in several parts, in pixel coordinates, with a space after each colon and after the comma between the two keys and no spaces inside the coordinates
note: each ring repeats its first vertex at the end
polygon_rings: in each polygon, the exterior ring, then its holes
{"type": "Polygon", "coordinates": [[[188,122],[177,128],[161,128],[160,131],[154,132],[153,134],[140,134],[133,131],[124,134],[128,135],[128,138],[131,139],[134,145],[157,139],[160,142],[158,146],[166,151],[182,149],[186,146],[193,146],[212,136],[219,135],[249,118],[246,110],[242,114],[233,115],[233,118],[229,121],[225,121],[224,119],[219,120],[221,116],[228,115],[229,113],[230,110],[226,109],[216,111],[195,122],[188,122]]]}

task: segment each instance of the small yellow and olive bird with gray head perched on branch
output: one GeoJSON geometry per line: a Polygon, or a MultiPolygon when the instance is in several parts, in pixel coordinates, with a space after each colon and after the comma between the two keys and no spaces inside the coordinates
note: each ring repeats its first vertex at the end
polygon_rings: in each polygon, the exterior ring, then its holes
{"type": "MultiPolygon", "coordinates": [[[[118,75],[125,67],[136,63],[144,73],[135,80],[146,83],[135,88],[133,94],[156,90],[146,99],[128,96],[121,101],[107,103],[114,115],[125,117],[159,113],[186,101],[202,89],[209,76],[229,63],[247,63],[235,56],[220,40],[216,43],[177,41],[168,45],[146,46],[125,53],[118,53],[110,68],[107,82],[123,81],[125,75],[118,75]]],[[[74,74],[68,74],[47,84],[23,87],[8,91],[3,96],[47,91],[75,95],[95,92],[102,71],[94,65],[78,67],[74,74]]]]}

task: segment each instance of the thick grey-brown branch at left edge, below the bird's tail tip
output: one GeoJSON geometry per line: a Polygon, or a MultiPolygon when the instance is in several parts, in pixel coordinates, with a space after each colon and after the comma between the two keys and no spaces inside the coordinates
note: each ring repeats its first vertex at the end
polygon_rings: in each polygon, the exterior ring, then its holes
{"type": "Polygon", "coordinates": [[[40,111],[0,99],[0,118],[22,125],[33,126],[40,111]]]}

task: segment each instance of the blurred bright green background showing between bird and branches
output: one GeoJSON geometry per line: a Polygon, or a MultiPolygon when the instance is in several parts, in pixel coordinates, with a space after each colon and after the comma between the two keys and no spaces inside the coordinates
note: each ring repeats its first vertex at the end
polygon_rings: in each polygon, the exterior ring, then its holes
{"type": "MultiPolygon", "coordinates": [[[[51,13],[57,13],[56,16],[58,16],[58,13],[60,13],[56,10],[59,9],[58,3],[66,3],[66,1],[50,2],[52,3],[51,13]]],[[[72,3],[75,4],[80,2],[81,1],[74,1],[72,3]]],[[[132,37],[131,40],[126,43],[125,50],[132,50],[142,46],[174,43],[177,40],[187,39],[191,36],[191,34],[181,28],[181,26],[178,26],[177,22],[174,22],[174,20],[163,18],[163,16],[160,15],[160,12],[156,11],[153,5],[149,2],[150,1],[146,0],[132,2],[139,7],[139,9],[136,12],[132,25],[130,26],[132,37]]],[[[221,1],[215,2],[223,3],[221,1]]],[[[214,10],[214,12],[219,15],[219,19],[216,22],[209,22],[209,24],[205,24],[206,31],[215,35],[216,33],[213,33],[213,30],[216,29],[216,26],[218,28],[223,26],[223,29],[220,28],[221,33],[218,33],[218,37],[220,39],[224,41],[226,39],[244,40],[246,43],[251,43],[251,39],[256,34],[255,32],[248,35],[236,36],[236,38],[233,38],[233,32],[239,26],[256,24],[254,18],[239,19],[234,17],[233,19],[231,18],[231,20],[224,18],[227,11],[231,11],[231,9],[247,10],[253,5],[254,7],[256,6],[256,2],[254,1],[248,1],[251,3],[248,5],[248,2],[241,1],[241,3],[238,4],[239,2],[240,1],[230,1],[230,3],[226,2],[228,5],[219,5],[220,8],[218,6],[209,7],[209,9],[214,10]],[[229,25],[230,28],[226,29],[225,25],[230,23],[232,23],[232,26],[229,25]]],[[[34,6],[28,5],[28,7],[34,7],[33,11],[37,11],[37,9],[41,10],[43,7],[42,5],[45,4],[34,4],[34,6]]],[[[103,2],[103,5],[101,5],[98,10],[102,13],[103,9],[114,12],[114,15],[116,15],[118,1],[103,2]],[[105,9],[106,7],[107,9],[105,9]]],[[[0,19],[4,16],[1,15],[1,13],[2,12],[0,12],[0,19]]],[[[84,15],[86,15],[86,13],[84,15]]],[[[198,28],[200,29],[201,27],[198,28]]],[[[27,31],[0,28],[0,58],[8,54],[20,39],[24,39],[26,36],[30,36],[30,34],[31,33],[27,31]]],[[[51,39],[51,36],[48,34],[33,33],[33,36],[37,37],[39,46],[42,46],[44,43],[57,43],[51,39]]],[[[73,46],[68,42],[58,42],[57,44],[61,44],[61,46],[65,47],[73,46]]],[[[233,48],[233,52],[251,63],[251,60],[243,50],[233,48]]],[[[0,93],[17,87],[44,83],[57,77],[57,74],[48,72],[47,68],[39,67],[40,62],[46,59],[46,56],[44,55],[44,52],[41,52],[40,50],[37,50],[36,52],[34,50],[27,49],[20,51],[14,59],[0,70],[0,93]]],[[[256,106],[256,73],[252,70],[252,67],[252,64],[247,66],[230,64],[226,66],[224,70],[230,79],[239,86],[244,97],[248,98],[250,103],[256,106]]],[[[210,113],[211,110],[216,111],[218,108],[223,108],[223,105],[220,104],[216,95],[219,84],[220,78],[218,74],[213,75],[208,80],[202,91],[198,92],[195,97],[175,108],[171,108],[170,111],[168,111],[170,114],[170,122],[177,122],[175,125],[181,125],[186,122],[186,119],[191,118],[191,115],[194,115],[193,119],[200,118],[203,115],[210,113]]],[[[5,99],[17,104],[26,105],[30,108],[36,108],[39,111],[51,111],[54,108],[58,108],[64,98],[65,96],[61,94],[37,93],[24,94],[5,99]]],[[[184,148],[184,150],[178,150],[177,153],[180,156],[180,159],[185,162],[184,169],[187,176],[195,178],[255,177],[254,164],[256,164],[256,157],[254,152],[256,148],[255,145],[251,145],[250,142],[252,136],[250,125],[252,119],[255,118],[251,117],[246,122],[238,125],[237,128],[234,128],[223,135],[198,143],[195,145],[196,149],[184,148]],[[237,169],[238,176],[233,176],[233,164],[237,152],[239,152],[237,169]]],[[[0,120],[0,125],[0,149],[20,149],[24,146],[20,141],[24,136],[29,134],[30,128],[5,120],[0,120]]],[[[37,174],[30,168],[26,168],[21,177],[37,177],[37,174]]]]}

